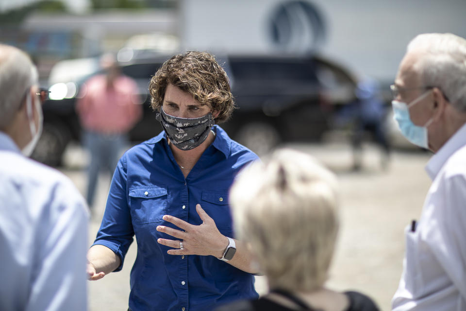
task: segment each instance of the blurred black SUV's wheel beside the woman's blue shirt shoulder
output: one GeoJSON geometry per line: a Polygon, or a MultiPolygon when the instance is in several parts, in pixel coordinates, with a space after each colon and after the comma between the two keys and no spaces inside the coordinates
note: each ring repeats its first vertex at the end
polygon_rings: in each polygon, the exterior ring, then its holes
{"type": "Polygon", "coordinates": [[[235,137],[236,141],[259,156],[268,153],[281,141],[278,131],[265,122],[247,123],[239,129],[235,137]]]}

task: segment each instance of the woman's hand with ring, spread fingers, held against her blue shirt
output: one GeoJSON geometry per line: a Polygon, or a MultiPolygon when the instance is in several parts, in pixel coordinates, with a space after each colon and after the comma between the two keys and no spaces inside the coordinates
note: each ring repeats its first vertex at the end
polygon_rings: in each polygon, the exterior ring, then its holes
{"type": "Polygon", "coordinates": [[[175,248],[167,251],[169,255],[212,255],[221,258],[223,251],[229,244],[227,237],[218,231],[214,220],[207,215],[200,204],[196,205],[196,211],[202,220],[200,225],[191,225],[179,218],[164,215],[165,221],[184,231],[159,225],[157,231],[164,232],[179,240],[157,239],[157,242],[175,248]],[[180,242],[183,242],[183,249],[180,249],[180,242]]]}

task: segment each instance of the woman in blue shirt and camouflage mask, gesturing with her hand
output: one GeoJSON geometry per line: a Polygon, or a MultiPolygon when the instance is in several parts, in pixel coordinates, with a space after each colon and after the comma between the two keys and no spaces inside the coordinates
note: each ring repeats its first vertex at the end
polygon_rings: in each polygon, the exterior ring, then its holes
{"type": "Polygon", "coordinates": [[[135,236],[129,310],[208,311],[257,298],[257,271],[233,239],[228,200],[257,155],[214,125],[234,109],[225,71],[207,52],[186,52],[167,60],[149,89],[164,131],[118,162],[89,278],[121,270],[135,236]]]}

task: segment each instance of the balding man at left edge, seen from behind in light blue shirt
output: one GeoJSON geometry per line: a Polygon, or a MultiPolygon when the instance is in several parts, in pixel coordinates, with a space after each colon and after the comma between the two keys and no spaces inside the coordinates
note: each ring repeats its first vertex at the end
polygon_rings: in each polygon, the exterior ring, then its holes
{"type": "Polygon", "coordinates": [[[48,95],[37,78],[26,53],[0,44],[0,309],[83,311],[86,203],[67,177],[27,157],[48,95]]]}

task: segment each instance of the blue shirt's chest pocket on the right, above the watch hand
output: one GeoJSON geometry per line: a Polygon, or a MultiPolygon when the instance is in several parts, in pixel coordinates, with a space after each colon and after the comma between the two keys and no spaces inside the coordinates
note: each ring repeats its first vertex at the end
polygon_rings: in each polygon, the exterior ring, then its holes
{"type": "Polygon", "coordinates": [[[218,230],[222,233],[231,233],[232,216],[228,204],[228,192],[202,191],[201,207],[215,221],[218,230]]]}

